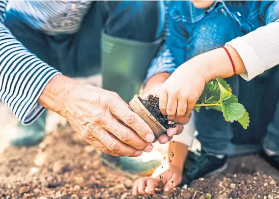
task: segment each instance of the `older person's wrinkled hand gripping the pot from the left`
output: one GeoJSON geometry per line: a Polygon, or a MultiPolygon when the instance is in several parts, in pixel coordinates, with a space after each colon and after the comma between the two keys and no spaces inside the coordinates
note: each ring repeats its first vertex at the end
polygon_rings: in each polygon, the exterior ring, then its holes
{"type": "Polygon", "coordinates": [[[150,127],[118,94],[54,76],[40,103],[66,118],[91,145],[113,156],[139,156],[152,150],[150,127]]]}

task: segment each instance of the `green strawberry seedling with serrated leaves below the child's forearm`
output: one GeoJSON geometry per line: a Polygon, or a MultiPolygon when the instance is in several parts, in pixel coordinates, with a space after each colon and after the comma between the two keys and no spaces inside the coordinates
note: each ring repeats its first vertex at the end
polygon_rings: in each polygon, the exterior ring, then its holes
{"type": "Polygon", "coordinates": [[[205,109],[212,108],[221,111],[227,122],[237,121],[243,129],[247,129],[249,126],[248,112],[242,104],[238,103],[229,84],[221,77],[217,77],[216,80],[210,81],[205,86],[194,110],[199,112],[202,106],[205,109]]]}

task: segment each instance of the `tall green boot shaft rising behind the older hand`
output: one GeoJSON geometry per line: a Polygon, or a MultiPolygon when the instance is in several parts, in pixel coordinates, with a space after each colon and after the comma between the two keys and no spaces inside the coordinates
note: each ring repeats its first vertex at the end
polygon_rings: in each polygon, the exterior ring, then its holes
{"type": "Polygon", "coordinates": [[[102,33],[102,87],[129,102],[141,89],[160,44],[160,39],[146,43],[102,33]]]}

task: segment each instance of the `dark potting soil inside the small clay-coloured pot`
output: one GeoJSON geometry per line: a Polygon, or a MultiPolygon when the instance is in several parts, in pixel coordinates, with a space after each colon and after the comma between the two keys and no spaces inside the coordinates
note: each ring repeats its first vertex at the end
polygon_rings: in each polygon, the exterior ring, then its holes
{"type": "Polygon", "coordinates": [[[166,119],[167,116],[162,115],[159,108],[159,98],[156,95],[148,95],[147,99],[142,99],[141,102],[164,128],[175,127],[175,124],[169,124],[169,120],[166,119]]]}

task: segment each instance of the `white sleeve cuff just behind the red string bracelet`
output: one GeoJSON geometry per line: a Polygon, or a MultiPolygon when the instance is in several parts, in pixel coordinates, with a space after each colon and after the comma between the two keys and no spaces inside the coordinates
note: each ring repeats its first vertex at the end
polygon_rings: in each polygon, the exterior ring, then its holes
{"type": "Polygon", "coordinates": [[[264,63],[243,37],[233,39],[226,45],[232,46],[240,55],[247,70],[247,73],[240,74],[243,79],[249,81],[265,71],[264,63]]]}

